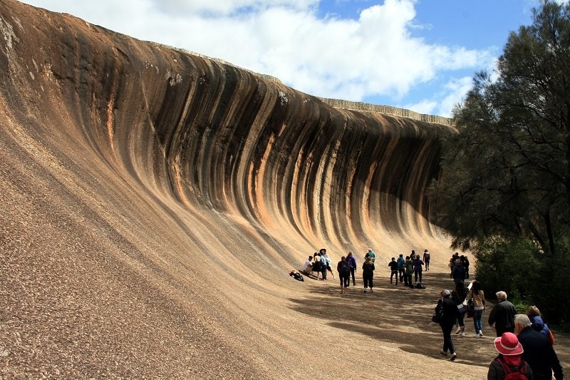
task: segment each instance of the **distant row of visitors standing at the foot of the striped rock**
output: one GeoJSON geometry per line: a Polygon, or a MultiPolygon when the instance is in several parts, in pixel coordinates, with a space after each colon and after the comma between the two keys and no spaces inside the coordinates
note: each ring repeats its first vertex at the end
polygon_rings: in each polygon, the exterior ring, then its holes
{"type": "MultiPolygon", "coordinates": [[[[364,292],[373,292],[373,278],[375,270],[375,260],[376,255],[372,249],[368,249],[368,252],[364,256],[364,262],[361,267],[362,278],[364,285],[364,292]]],[[[422,272],[425,270],[430,270],[430,252],[424,250],[423,257],[415,253],[404,258],[404,255],[400,254],[398,260],[392,257],[392,260],[388,262],[388,267],[390,268],[390,284],[404,283],[405,286],[410,288],[423,288],[422,284],[422,272]],[[412,281],[412,276],[414,276],[414,281],[412,281]]],[[[355,272],[357,269],[356,257],[353,252],[348,252],[348,255],[341,257],[336,265],[336,271],[339,274],[339,281],[341,284],[341,293],[346,291],[346,288],[350,286],[351,279],[353,286],[356,286],[355,272]]],[[[307,275],[314,275],[316,279],[326,281],[327,272],[333,273],[331,269],[331,257],[326,253],[326,249],[322,248],[314,255],[309,256],[303,265],[303,270],[307,275]]],[[[333,274],[334,277],[334,274],[333,274]]]]}

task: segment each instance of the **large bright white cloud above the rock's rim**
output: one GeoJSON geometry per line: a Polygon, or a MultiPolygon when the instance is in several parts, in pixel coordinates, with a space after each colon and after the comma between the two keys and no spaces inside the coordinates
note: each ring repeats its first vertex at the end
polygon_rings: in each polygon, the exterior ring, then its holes
{"type": "MultiPolygon", "coordinates": [[[[135,38],[222,58],[311,95],[348,101],[388,96],[396,103],[442,72],[492,61],[487,51],[418,37],[415,32],[423,26],[415,21],[415,0],[385,0],[363,9],[359,19],[319,17],[320,0],[26,2],[135,38]]],[[[447,109],[446,99],[439,109],[447,109]]]]}

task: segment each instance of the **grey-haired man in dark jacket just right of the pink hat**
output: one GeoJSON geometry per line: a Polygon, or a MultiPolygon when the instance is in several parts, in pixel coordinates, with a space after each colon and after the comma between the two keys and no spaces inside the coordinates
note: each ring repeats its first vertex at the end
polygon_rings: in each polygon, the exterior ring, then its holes
{"type": "Polygon", "coordinates": [[[544,334],[532,328],[529,317],[525,314],[515,315],[514,329],[524,349],[522,357],[532,368],[534,380],[551,380],[553,371],[556,380],[563,379],[562,366],[554,347],[544,334]]]}

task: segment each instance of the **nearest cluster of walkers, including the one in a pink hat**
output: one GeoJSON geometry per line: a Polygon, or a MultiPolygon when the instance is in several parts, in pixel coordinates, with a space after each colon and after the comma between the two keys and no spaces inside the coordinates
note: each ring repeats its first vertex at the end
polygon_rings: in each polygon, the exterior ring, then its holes
{"type": "MultiPolygon", "coordinates": [[[[459,264],[461,265],[461,264],[459,264]]],[[[441,313],[440,327],[443,333],[443,348],[440,353],[450,355],[450,360],[457,358],[451,332],[455,325],[455,334],[465,336],[464,317],[466,313],[473,317],[475,337],[482,337],[482,313],[485,307],[484,292],[477,281],[469,286],[456,282],[453,291],[444,289],[435,307],[436,314],[441,313]],[[466,290],[467,289],[467,290],[466,290]]],[[[527,309],[526,314],[517,314],[514,305],[507,301],[506,292],[497,292],[497,304],[489,313],[489,326],[496,332],[494,339],[497,357],[489,365],[488,380],[502,380],[510,374],[517,379],[543,380],[563,379],[562,367],[554,351],[554,335],[541,318],[536,306],[527,309]]]]}

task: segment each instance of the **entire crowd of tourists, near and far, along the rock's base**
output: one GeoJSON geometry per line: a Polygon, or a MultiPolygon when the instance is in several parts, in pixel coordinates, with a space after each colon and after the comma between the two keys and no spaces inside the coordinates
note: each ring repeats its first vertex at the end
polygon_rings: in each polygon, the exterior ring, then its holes
{"type": "MultiPolygon", "coordinates": [[[[364,292],[373,292],[373,277],[376,255],[369,249],[364,256],[361,266],[364,292]]],[[[483,313],[485,297],[482,285],[473,279],[465,286],[470,278],[470,262],[467,255],[455,252],[450,258],[450,278],[455,286],[453,289],[443,289],[440,299],[435,306],[432,321],[439,324],[443,334],[443,346],[440,354],[450,361],[457,359],[452,335],[465,337],[465,319],[473,321],[473,336],[483,337],[483,313]],[[455,333],[453,330],[455,328],[455,333]],[[453,333],[453,334],[452,334],[453,333]]],[[[356,286],[355,272],[358,268],[353,252],[341,257],[336,265],[341,293],[351,286],[356,286]]],[[[409,256],[400,254],[388,262],[390,284],[404,284],[405,287],[421,288],[423,271],[430,270],[430,252],[425,250],[423,256],[412,250],[409,256]]],[[[291,276],[299,274],[291,272],[291,276]]],[[[331,267],[331,257],[323,248],[309,256],[303,266],[304,274],[326,281],[327,273],[334,277],[331,267]]],[[[300,275],[300,274],[299,274],[300,275]]],[[[299,279],[299,278],[297,278],[299,279]]],[[[302,276],[301,276],[302,281],[302,276]]],[[[530,380],[562,380],[564,375],[556,351],[554,351],[554,334],[544,323],[540,310],[531,306],[525,314],[517,314],[514,305],[507,301],[507,293],[500,291],[495,294],[497,303],[489,312],[487,323],[494,330],[494,349],[497,356],[489,364],[488,380],[530,379],[530,380]]]]}

